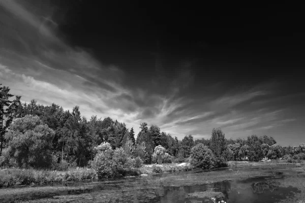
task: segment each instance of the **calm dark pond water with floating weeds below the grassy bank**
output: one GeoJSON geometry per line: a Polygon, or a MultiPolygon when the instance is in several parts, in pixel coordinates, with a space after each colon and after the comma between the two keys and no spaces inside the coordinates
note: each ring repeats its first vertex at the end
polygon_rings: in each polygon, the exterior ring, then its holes
{"type": "Polygon", "coordinates": [[[225,168],[99,182],[0,189],[0,202],[278,202],[292,199],[305,183],[289,167],[225,168]],[[289,180],[289,181],[288,181],[289,180]],[[291,184],[291,185],[289,185],[291,184]]]}

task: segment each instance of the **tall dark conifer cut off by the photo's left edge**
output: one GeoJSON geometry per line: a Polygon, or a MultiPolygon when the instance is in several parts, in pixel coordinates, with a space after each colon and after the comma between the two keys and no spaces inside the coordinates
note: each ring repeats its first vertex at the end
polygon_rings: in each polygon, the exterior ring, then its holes
{"type": "Polygon", "coordinates": [[[3,138],[4,134],[7,131],[8,124],[10,123],[10,117],[9,117],[9,112],[8,112],[8,107],[12,103],[12,101],[9,100],[10,97],[14,96],[13,94],[10,94],[10,88],[6,86],[1,86],[0,84],[0,155],[2,154],[2,148],[3,148],[3,138]],[[6,117],[9,118],[9,123],[4,124],[4,121],[6,117]]]}

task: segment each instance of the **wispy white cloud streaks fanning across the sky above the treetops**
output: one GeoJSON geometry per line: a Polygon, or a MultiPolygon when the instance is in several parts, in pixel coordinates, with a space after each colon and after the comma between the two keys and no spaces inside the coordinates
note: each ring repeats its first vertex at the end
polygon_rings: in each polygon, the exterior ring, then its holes
{"type": "Polygon", "coordinates": [[[0,1],[0,80],[23,101],[34,98],[70,110],[79,105],[87,118],[110,116],[136,133],[140,122],[157,124],[179,139],[208,138],[213,127],[222,127],[228,137],[245,137],[298,120],[284,105],[289,97],[283,98],[277,81],[245,87],[214,81],[201,87],[189,61],[170,78],[160,70],[149,78],[130,75],[63,40],[54,7],[31,6],[0,1]]]}

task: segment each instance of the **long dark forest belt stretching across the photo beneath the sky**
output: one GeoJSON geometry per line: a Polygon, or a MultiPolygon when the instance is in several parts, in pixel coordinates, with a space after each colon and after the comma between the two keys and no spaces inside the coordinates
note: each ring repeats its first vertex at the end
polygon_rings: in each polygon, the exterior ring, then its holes
{"type": "Polygon", "coordinates": [[[34,99],[22,104],[20,99],[0,84],[1,167],[90,166],[103,143],[146,164],[190,162],[194,151],[202,149],[202,153],[209,151],[216,157],[218,166],[225,161],[260,161],[265,157],[288,162],[305,159],[303,143],[282,147],[272,137],[255,134],[247,139],[227,139],[220,128],[211,130],[210,139],[194,140],[189,134],[178,140],[157,125],[142,122],[135,139],[134,129],[125,123],[110,117],[87,119],[81,116],[79,106],[70,112],[56,104],[37,104],[34,99]],[[199,145],[204,148],[199,149],[199,145]]]}

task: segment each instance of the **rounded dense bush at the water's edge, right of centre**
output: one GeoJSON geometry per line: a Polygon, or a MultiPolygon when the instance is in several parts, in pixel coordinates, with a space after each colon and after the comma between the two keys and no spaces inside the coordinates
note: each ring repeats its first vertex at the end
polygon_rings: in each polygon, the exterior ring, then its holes
{"type": "Polygon", "coordinates": [[[211,169],[217,166],[215,155],[201,143],[191,149],[191,158],[194,168],[211,169]]]}

